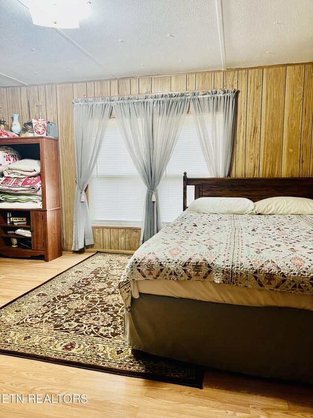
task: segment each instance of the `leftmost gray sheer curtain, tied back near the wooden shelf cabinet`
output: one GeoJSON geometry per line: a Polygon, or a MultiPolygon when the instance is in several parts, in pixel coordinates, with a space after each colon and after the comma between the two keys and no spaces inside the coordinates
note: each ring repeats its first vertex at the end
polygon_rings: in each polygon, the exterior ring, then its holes
{"type": "Polygon", "coordinates": [[[93,236],[85,189],[97,162],[112,103],[110,99],[74,100],[76,190],[72,250],[92,245],[93,236]]]}

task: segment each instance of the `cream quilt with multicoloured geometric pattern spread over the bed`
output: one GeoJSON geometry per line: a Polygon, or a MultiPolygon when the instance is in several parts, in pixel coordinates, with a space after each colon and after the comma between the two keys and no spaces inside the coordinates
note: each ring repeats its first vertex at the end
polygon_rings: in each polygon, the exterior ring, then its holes
{"type": "Polygon", "coordinates": [[[119,282],[127,310],[130,282],[156,279],[313,295],[313,215],[183,212],[127,264],[119,282]]]}

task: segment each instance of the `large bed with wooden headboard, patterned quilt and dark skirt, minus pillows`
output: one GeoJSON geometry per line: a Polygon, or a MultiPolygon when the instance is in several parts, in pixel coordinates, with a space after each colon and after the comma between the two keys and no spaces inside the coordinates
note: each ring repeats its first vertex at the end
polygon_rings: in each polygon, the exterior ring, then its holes
{"type": "MultiPolygon", "coordinates": [[[[184,211],[189,185],[195,198],[313,198],[309,177],[187,178],[184,173],[184,211]]],[[[134,349],[159,356],[313,383],[312,285],[313,215],[183,212],[134,253],[121,278],[125,338],[134,349]],[[249,240],[257,235],[254,248],[249,240]],[[274,256],[264,260],[272,246],[274,256]],[[219,262],[226,250],[227,269],[219,262]],[[268,276],[256,273],[260,263],[268,276]]]]}

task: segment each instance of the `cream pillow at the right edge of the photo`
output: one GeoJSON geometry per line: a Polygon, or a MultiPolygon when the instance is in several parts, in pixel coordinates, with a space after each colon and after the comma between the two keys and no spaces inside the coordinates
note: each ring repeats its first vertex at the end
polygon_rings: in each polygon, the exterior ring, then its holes
{"type": "Polygon", "coordinates": [[[255,212],[262,215],[311,215],[313,200],[306,197],[269,197],[255,202],[255,212]]]}

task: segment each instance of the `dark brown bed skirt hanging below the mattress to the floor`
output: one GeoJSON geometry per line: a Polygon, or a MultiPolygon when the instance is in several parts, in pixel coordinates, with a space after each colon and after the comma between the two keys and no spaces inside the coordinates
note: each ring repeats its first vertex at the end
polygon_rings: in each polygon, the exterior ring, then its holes
{"type": "Polygon", "coordinates": [[[140,294],[125,338],[163,357],[313,384],[313,311],[140,294]]]}

